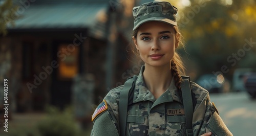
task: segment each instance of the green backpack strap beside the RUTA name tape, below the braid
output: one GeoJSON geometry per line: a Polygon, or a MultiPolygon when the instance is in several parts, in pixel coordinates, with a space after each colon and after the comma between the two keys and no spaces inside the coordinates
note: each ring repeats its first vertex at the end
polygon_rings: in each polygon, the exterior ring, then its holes
{"type": "Polygon", "coordinates": [[[185,110],[185,117],[186,117],[186,134],[187,136],[193,135],[192,129],[192,119],[193,119],[193,100],[191,96],[191,87],[190,87],[190,80],[188,76],[181,76],[183,82],[181,83],[181,92],[182,92],[182,100],[183,106],[185,110]]]}

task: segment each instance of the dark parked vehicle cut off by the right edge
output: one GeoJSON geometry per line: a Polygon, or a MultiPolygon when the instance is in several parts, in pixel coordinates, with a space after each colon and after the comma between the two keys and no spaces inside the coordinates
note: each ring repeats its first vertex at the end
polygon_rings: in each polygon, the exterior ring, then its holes
{"type": "Polygon", "coordinates": [[[256,98],[256,73],[248,73],[245,76],[244,84],[249,95],[256,98]]]}

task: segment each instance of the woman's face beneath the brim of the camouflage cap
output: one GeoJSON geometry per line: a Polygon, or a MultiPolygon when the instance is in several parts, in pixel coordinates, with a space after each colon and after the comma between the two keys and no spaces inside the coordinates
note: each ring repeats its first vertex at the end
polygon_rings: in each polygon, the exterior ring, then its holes
{"type": "Polygon", "coordinates": [[[173,26],[159,21],[141,25],[133,41],[145,65],[151,66],[170,66],[170,60],[178,47],[173,26]]]}

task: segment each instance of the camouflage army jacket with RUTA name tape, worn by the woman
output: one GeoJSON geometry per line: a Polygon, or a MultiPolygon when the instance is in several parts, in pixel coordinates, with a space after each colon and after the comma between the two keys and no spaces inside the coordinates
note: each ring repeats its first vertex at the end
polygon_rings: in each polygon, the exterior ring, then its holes
{"type": "MultiPolygon", "coordinates": [[[[186,135],[182,98],[174,80],[164,94],[155,99],[146,88],[143,71],[142,66],[135,83],[133,104],[127,109],[126,135],[186,135]]],[[[210,102],[207,90],[194,82],[190,85],[196,97],[193,115],[194,135],[209,131],[212,135],[232,135],[220,118],[215,105],[210,102]]],[[[123,85],[114,88],[105,96],[101,103],[105,104],[104,111],[93,116],[91,135],[119,135],[118,103],[122,88],[123,85]]]]}

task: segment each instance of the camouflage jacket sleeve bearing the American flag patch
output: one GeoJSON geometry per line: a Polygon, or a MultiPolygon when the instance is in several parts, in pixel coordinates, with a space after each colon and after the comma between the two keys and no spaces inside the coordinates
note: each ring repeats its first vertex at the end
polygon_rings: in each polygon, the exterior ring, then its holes
{"type": "MultiPolygon", "coordinates": [[[[118,103],[119,103],[119,89],[110,90],[110,92],[105,96],[103,104],[95,109],[94,115],[92,116],[93,128],[91,131],[91,136],[98,135],[119,135],[119,124],[118,124],[118,103]],[[97,110],[102,110],[102,105],[107,107],[106,110],[100,111],[98,114],[97,110]],[[95,114],[96,113],[96,114],[95,114]]],[[[104,108],[104,107],[103,107],[104,108]]]]}

